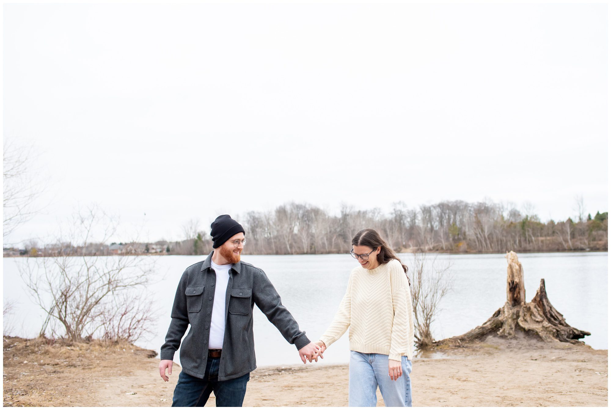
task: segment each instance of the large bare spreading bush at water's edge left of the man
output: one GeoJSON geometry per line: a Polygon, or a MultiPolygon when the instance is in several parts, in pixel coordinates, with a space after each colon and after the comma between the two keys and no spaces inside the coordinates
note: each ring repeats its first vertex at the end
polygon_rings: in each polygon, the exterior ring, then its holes
{"type": "Polygon", "coordinates": [[[27,258],[18,263],[29,294],[48,315],[42,334],[46,324],[51,323],[54,328],[59,323],[68,339],[90,339],[104,326],[110,314],[108,309],[116,309],[111,298],[144,294],[145,285],[152,280],[154,259],[86,255],[87,245],[108,241],[117,223],[117,219],[92,205],[76,212],[68,229],[57,238],[57,243],[78,247],[59,247],[56,257],[27,258]]]}

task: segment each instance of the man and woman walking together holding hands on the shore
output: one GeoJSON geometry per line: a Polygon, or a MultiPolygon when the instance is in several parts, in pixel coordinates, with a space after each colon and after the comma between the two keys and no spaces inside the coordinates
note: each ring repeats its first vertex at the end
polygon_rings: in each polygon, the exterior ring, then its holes
{"type": "Polygon", "coordinates": [[[374,229],[352,240],[359,263],[327,330],[315,343],[299,329],[259,268],[240,260],[244,229],[229,215],[212,223],[214,251],[183,273],[172,306],[172,321],[161,346],[159,373],[168,381],[180,349],[182,372],[172,406],[203,406],[214,392],[216,406],[241,406],[255,363],[254,304],[299,350],[305,363],[349,328],[349,406],[375,406],[379,387],[386,406],[411,406],[409,373],[414,322],[408,268],[374,229]],[[189,324],[191,329],[185,336],[189,324]]]}

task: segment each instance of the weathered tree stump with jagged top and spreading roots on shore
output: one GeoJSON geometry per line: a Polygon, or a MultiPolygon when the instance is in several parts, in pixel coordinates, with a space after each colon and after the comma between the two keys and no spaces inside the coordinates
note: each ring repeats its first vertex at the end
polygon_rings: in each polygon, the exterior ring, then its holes
{"type": "Polygon", "coordinates": [[[541,279],[539,289],[530,302],[525,302],[524,271],[518,262],[516,252],[508,252],[507,258],[507,302],[497,309],[481,326],[448,339],[434,342],[435,346],[460,346],[465,342],[483,339],[495,332],[501,337],[516,337],[517,331],[539,337],[545,342],[569,342],[575,345],[584,344],[581,340],[590,332],[580,331],[569,326],[565,318],[554,309],[547,298],[545,279],[541,279]]]}

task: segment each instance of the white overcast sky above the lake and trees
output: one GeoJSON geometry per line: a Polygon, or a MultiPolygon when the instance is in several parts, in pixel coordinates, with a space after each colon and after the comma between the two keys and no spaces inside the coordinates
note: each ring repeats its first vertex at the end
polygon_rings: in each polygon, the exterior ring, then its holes
{"type": "Polygon", "coordinates": [[[92,202],[149,241],[291,200],[607,211],[607,24],[605,4],[5,4],[4,136],[50,202],[9,241],[92,202]]]}

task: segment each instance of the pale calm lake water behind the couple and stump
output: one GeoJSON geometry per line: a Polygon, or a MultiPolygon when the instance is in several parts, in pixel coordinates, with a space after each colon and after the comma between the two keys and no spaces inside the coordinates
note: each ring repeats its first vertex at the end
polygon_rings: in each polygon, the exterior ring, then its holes
{"type": "MultiPolygon", "coordinates": [[[[400,254],[412,266],[411,254],[400,254]]],[[[526,299],[535,296],[541,278],[547,296],[567,323],[591,332],[585,343],[607,349],[607,252],[519,254],[524,268],[526,299]]],[[[181,274],[202,256],[158,257],[158,281],[150,285],[161,315],[153,337],[136,344],[159,352],[170,323],[170,311],[181,274]]],[[[435,339],[463,334],[482,324],[506,296],[507,261],[504,254],[439,255],[449,259],[453,290],[445,296],[433,323],[435,339]]],[[[262,268],[282,296],[284,306],[312,340],[317,340],[335,315],[356,261],[349,255],[243,255],[245,262],[262,268]]],[[[35,337],[45,314],[28,298],[16,269],[23,258],[4,258],[4,301],[17,300],[9,317],[14,335],[35,337]]],[[[5,318],[6,320],[7,318],[5,318]]],[[[289,345],[255,306],[255,351],[257,365],[301,364],[295,346],[289,345]]],[[[348,332],[324,354],[324,363],[348,362],[348,332]]],[[[178,353],[175,361],[179,362],[178,353]]]]}

